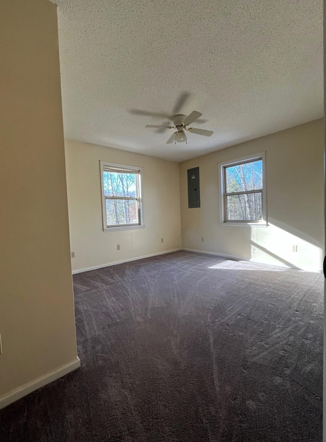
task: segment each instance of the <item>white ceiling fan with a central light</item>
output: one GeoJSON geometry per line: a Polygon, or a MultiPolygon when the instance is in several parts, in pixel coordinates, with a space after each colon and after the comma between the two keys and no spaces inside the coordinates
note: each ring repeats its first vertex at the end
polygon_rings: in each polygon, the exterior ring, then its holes
{"type": "Polygon", "coordinates": [[[200,112],[197,112],[197,110],[193,110],[193,112],[188,116],[179,114],[173,117],[172,121],[174,126],[157,126],[157,125],[147,124],[145,127],[177,129],[177,131],[170,136],[169,140],[167,141],[167,144],[173,142],[183,143],[187,141],[185,130],[187,130],[188,132],[198,133],[198,135],[205,135],[205,136],[210,136],[213,133],[212,130],[196,129],[195,127],[189,127],[189,128],[186,127],[201,116],[202,114],[200,112]]]}

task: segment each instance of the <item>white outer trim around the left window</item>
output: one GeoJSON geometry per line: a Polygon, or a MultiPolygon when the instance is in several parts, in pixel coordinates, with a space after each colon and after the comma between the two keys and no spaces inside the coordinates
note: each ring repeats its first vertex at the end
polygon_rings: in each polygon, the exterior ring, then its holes
{"type": "Polygon", "coordinates": [[[101,177],[101,196],[102,196],[102,222],[103,222],[103,232],[114,232],[117,230],[133,230],[133,229],[144,229],[144,202],[143,202],[143,194],[142,194],[142,184],[143,184],[143,168],[128,164],[119,164],[114,162],[102,161],[100,160],[100,177],[101,177]],[[106,224],[106,205],[105,205],[105,195],[104,195],[104,182],[103,182],[103,166],[111,166],[120,169],[124,169],[126,171],[130,170],[130,172],[139,171],[140,175],[140,183],[139,183],[139,216],[140,216],[140,224],[122,224],[121,226],[112,226],[107,227],[106,224]]]}

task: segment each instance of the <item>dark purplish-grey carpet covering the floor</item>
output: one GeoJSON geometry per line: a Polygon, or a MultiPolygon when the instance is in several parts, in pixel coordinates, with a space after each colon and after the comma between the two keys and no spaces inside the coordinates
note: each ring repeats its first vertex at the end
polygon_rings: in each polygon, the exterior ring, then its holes
{"type": "Polygon", "coordinates": [[[323,277],[176,252],[74,276],[82,367],[0,440],[322,440],[323,277]]]}

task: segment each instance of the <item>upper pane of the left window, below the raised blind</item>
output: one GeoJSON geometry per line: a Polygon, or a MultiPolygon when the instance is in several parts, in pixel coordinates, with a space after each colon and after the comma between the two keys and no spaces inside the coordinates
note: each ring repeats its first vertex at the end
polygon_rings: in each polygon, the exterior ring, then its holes
{"type": "Polygon", "coordinates": [[[136,197],[136,174],[103,172],[104,195],[110,197],[136,197]]]}

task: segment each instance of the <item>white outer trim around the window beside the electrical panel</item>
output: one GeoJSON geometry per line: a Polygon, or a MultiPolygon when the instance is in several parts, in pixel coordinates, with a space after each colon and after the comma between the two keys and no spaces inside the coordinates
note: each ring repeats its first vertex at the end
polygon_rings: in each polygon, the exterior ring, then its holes
{"type": "Polygon", "coordinates": [[[220,194],[220,224],[223,226],[252,226],[252,227],[267,227],[267,200],[266,200],[266,155],[265,152],[248,155],[242,158],[237,158],[231,161],[224,161],[219,163],[219,194],[220,194]],[[263,172],[263,188],[262,188],[262,219],[259,221],[226,221],[225,216],[225,202],[224,202],[224,167],[235,165],[241,162],[253,161],[255,159],[262,159],[263,172]]]}

